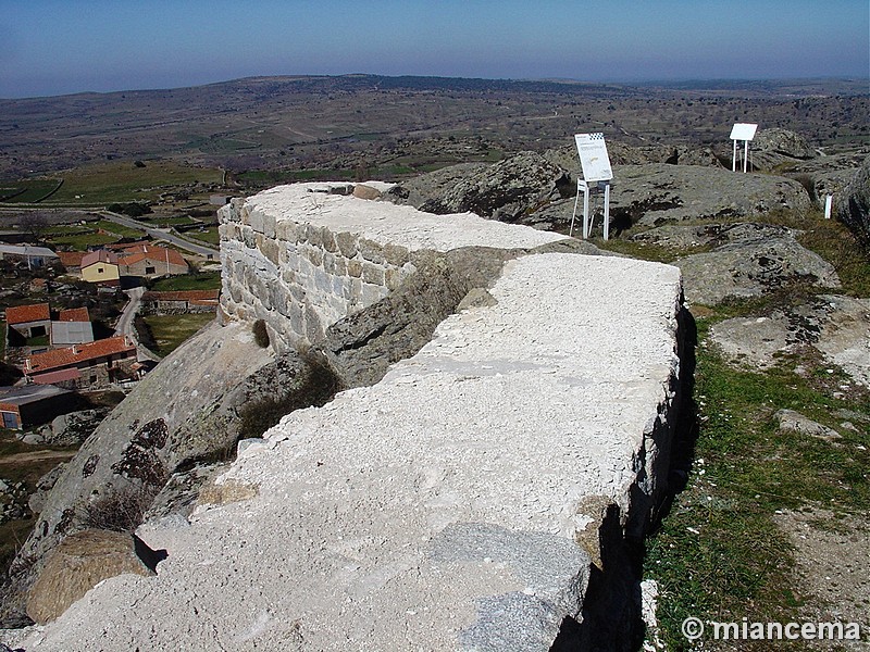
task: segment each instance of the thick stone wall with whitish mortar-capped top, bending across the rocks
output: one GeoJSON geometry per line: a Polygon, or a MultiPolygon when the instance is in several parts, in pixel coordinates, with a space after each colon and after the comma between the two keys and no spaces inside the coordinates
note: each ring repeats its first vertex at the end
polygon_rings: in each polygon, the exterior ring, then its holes
{"type": "Polygon", "coordinates": [[[564,238],[311,199],[311,188],[277,188],[223,214],[224,294],[235,291],[224,312],[265,319],[281,346],[314,342],[343,311],[376,301],[348,279],[389,292],[387,271],[413,274],[415,252],[524,255],[504,265],[490,300],[448,316],[380,383],[294,412],[239,447],[189,523],[142,526],[139,536],[169,554],[156,577],[107,580],[9,642],[546,651],[570,620],[580,624],[576,649],[593,636],[599,648],[629,649],[629,634],[583,628],[601,626],[606,610],[612,631],[631,631],[632,591],[600,584],[626,575],[613,567],[620,546],[643,536],[664,488],[680,390],[679,269],[535,253],[564,238]],[[356,249],[335,255],[339,237],[356,249]],[[388,260],[388,247],[407,260],[388,260]],[[376,265],[384,279],[327,273],[315,250],[345,267],[376,265]],[[281,304],[294,297],[304,305],[296,319],[281,304]],[[586,600],[591,582],[607,606],[586,600]]]}

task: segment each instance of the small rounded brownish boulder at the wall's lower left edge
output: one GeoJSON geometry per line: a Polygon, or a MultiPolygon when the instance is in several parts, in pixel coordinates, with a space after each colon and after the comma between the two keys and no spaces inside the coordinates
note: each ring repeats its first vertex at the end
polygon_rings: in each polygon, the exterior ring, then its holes
{"type": "MultiPolygon", "coordinates": [[[[147,548],[139,541],[138,546],[147,548]]],[[[27,615],[45,624],[99,582],[123,573],[154,575],[136,553],[129,534],[88,529],[76,532],[51,553],[27,594],[27,615]]],[[[153,554],[153,551],[150,551],[153,554]]]]}

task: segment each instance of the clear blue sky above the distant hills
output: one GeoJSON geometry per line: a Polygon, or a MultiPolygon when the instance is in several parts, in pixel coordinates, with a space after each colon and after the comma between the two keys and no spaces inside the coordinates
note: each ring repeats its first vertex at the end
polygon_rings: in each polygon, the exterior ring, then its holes
{"type": "Polygon", "coordinates": [[[253,75],[870,76],[868,0],[0,0],[0,98],[253,75]]]}

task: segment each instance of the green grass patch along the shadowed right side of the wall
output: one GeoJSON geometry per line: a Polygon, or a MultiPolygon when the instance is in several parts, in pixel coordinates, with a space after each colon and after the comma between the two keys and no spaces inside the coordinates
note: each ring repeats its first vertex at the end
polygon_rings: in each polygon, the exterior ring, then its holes
{"type": "Polygon", "coordinates": [[[644,568],[659,582],[658,617],[671,650],[691,648],[680,632],[689,615],[720,622],[796,617],[791,546],[773,523],[778,510],[852,513],[870,504],[870,432],[838,428],[832,416],[840,408],[870,414],[870,392],[834,400],[826,388],[813,387],[812,374],[798,376],[788,365],[766,374],[737,372],[701,347],[696,400],[693,474],[649,540],[644,568]],[[781,408],[840,429],[842,440],[780,431],[773,415],[781,408]]]}

